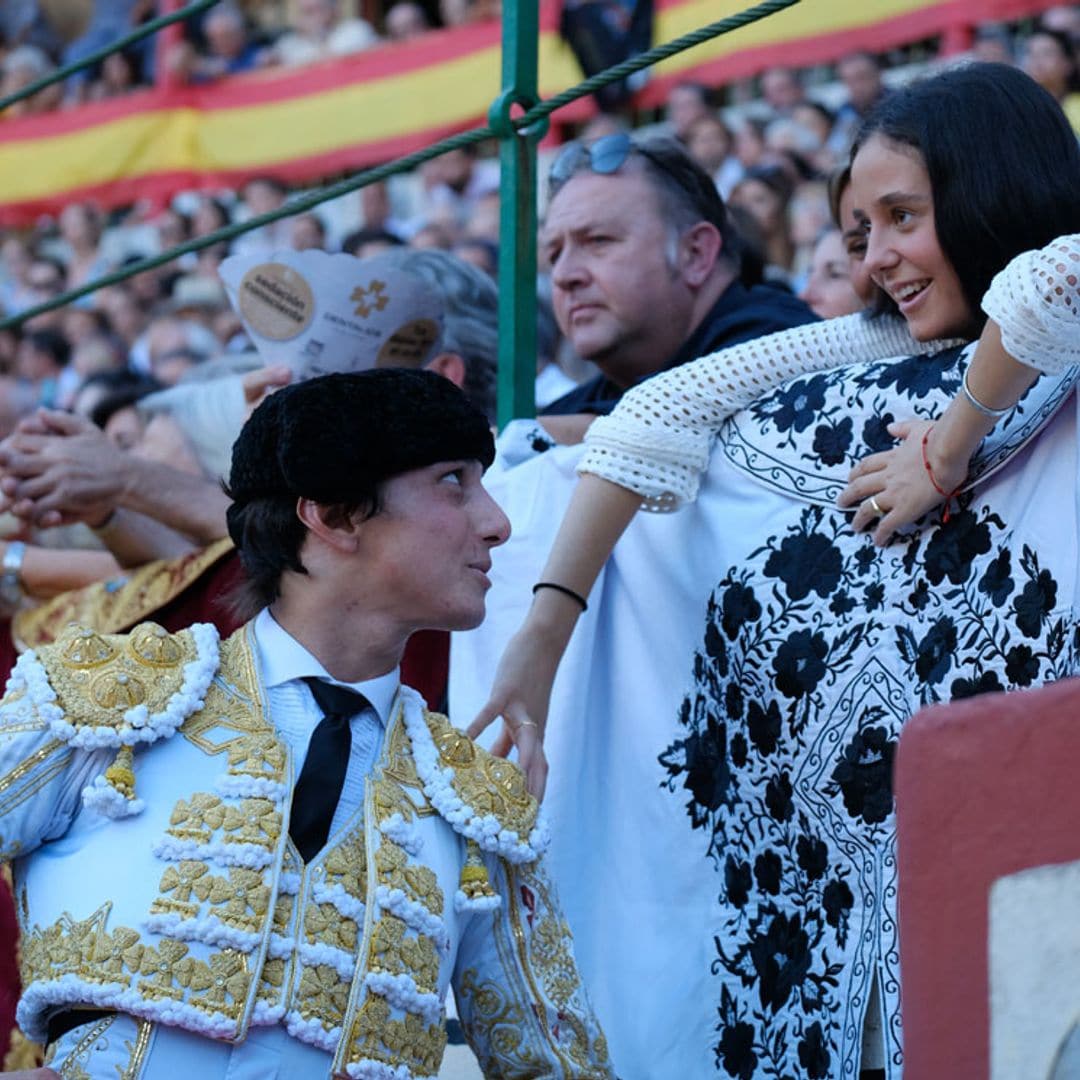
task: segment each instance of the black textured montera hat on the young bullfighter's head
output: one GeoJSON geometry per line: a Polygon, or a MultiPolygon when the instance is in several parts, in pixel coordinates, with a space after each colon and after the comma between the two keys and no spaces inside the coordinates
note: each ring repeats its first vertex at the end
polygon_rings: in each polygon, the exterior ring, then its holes
{"type": "Polygon", "coordinates": [[[413,469],[459,459],[487,468],[494,458],[484,414],[441,375],[375,368],[307,379],[271,394],[240,432],[230,532],[233,511],[255,499],[350,503],[413,469]]]}

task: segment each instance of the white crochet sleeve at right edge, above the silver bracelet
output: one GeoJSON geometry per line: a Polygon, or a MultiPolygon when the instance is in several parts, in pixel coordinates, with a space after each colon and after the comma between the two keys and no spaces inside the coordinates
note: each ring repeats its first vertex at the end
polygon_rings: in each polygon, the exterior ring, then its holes
{"type": "Polygon", "coordinates": [[[1017,255],[990,282],[983,310],[1022,364],[1048,375],[1080,364],[1080,233],[1017,255]]]}

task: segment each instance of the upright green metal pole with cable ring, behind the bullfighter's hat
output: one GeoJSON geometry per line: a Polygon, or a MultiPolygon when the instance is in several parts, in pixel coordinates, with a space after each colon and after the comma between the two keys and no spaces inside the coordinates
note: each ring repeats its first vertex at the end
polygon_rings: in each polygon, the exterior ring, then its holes
{"type": "Polygon", "coordinates": [[[546,120],[517,131],[512,110],[538,104],[537,0],[502,5],[502,94],[488,111],[499,136],[499,427],[536,414],[537,143],[546,120]]]}

